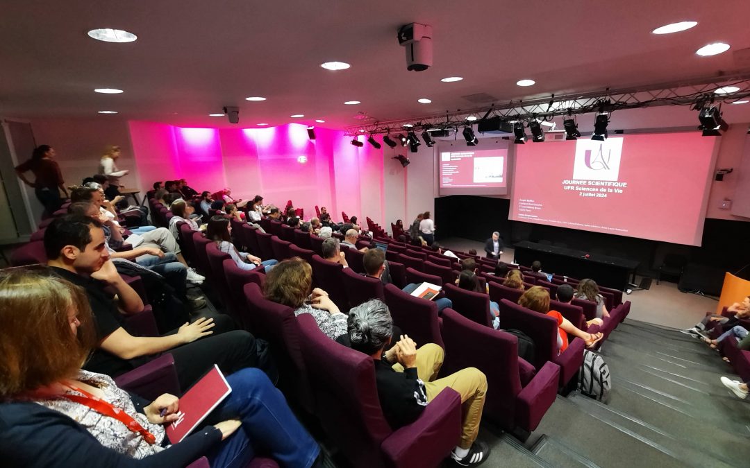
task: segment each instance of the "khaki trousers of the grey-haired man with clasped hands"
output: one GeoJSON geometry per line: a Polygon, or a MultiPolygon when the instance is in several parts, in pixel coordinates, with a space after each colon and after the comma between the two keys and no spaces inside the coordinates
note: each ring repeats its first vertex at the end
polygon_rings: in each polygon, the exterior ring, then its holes
{"type": "MultiPolygon", "coordinates": [[[[484,395],[487,394],[487,377],[478,368],[461,369],[448,377],[435,380],[443,366],[443,348],[428,343],[417,350],[417,374],[425,383],[428,401],[437,397],[446,387],[454,389],[461,395],[463,424],[461,440],[458,446],[469,449],[476,440],[481,421],[481,410],[484,408],[484,395]]],[[[403,372],[401,364],[394,364],[393,370],[403,372]]]]}

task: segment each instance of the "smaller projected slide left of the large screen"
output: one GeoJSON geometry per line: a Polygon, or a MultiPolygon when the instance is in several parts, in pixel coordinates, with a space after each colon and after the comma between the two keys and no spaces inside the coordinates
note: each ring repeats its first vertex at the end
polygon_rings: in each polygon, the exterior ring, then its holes
{"type": "Polygon", "coordinates": [[[508,150],[442,151],[441,195],[507,193],[508,150]]]}

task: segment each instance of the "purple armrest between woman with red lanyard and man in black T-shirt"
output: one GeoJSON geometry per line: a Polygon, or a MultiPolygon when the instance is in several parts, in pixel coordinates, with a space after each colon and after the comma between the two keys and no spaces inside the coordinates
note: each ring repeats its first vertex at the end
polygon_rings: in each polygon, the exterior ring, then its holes
{"type": "Polygon", "coordinates": [[[175,359],[169,353],[162,354],[156,359],[116,377],[115,383],[121,389],[133,392],[148,401],[153,401],[164,393],[177,396],[182,394],[177,378],[175,359]]]}

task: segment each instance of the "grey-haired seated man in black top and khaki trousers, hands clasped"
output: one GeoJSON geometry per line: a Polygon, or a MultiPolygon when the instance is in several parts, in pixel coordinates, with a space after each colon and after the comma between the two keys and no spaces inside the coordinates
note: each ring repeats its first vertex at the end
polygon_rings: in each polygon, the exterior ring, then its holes
{"type": "Polygon", "coordinates": [[[437,379],[443,365],[443,348],[427,343],[417,349],[407,335],[383,353],[394,341],[393,320],[380,300],[369,300],[351,309],[347,325],[351,347],[374,360],[380,406],[392,428],[415,422],[430,401],[449,387],[460,394],[463,403],[461,438],[451,454],[452,460],[460,467],[487,460],[489,447],[476,440],[487,393],[487,377],[481,371],[464,368],[437,379]]]}

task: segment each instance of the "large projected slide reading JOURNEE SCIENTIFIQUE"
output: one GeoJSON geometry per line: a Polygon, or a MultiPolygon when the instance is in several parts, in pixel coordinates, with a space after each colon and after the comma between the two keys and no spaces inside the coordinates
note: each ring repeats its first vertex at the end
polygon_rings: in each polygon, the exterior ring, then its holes
{"type": "Polygon", "coordinates": [[[663,133],[517,145],[510,219],[700,246],[716,141],[663,133]]]}

